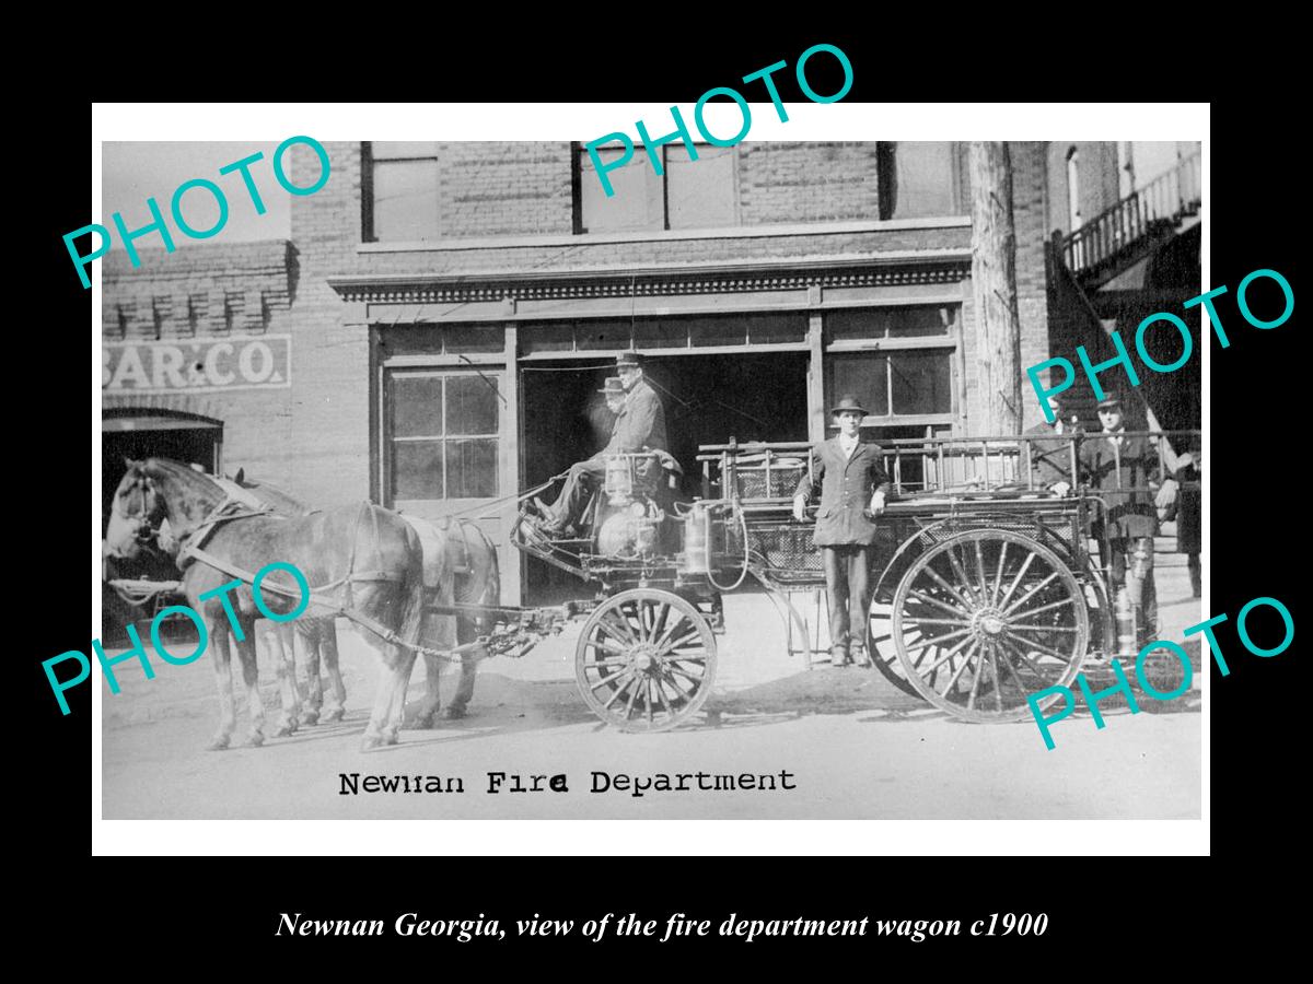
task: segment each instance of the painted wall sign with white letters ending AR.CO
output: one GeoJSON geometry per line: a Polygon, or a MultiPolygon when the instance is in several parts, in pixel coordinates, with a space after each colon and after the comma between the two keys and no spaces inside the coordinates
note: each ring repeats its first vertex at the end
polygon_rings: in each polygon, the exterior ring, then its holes
{"type": "Polygon", "coordinates": [[[106,394],[213,392],[291,386],[291,336],[101,344],[106,394]]]}

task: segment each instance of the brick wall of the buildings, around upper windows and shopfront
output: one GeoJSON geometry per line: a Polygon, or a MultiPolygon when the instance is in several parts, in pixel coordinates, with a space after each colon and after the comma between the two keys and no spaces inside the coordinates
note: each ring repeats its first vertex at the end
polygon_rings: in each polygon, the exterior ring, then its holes
{"type": "MultiPolygon", "coordinates": [[[[226,422],[230,468],[246,466],[319,505],[369,495],[368,332],[347,324],[347,304],[328,286],[331,276],[475,274],[579,272],[600,268],[720,264],[822,256],[873,257],[893,251],[964,247],[969,228],[898,228],[789,236],[726,235],[706,239],[650,239],[632,243],[532,243],[408,252],[361,251],[362,152],[358,143],[326,144],[332,177],[312,195],[291,203],[291,244],[202,244],[175,255],[147,256],[142,270],[112,255],[105,268],[106,332],[127,337],[259,328],[293,336],[294,387],[205,396],[207,416],[226,422]],[[175,311],[184,310],[186,318],[175,311]],[[218,311],[225,312],[221,323],[218,311]],[[249,300],[248,300],[249,299],[249,300]],[[190,320],[188,320],[190,319],[190,320]]],[[[441,188],[444,215],[458,240],[467,236],[569,234],[570,147],[537,144],[445,144],[441,188]]],[[[1023,366],[1049,352],[1043,239],[1048,168],[1044,144],[1012,144],[1014,219],[1018,232],[1018,289],[1023,366]]],[[[294,185],[319,174],[307,147],[289,152],[294,185]]],[[[873,219],[877,210],[874,144],[758,144],[741,154],[741,202],[746,227],[767,223],[825,223],[873,219]]],[[[744,228],[744,234],[750,232],[744,228]]],[[[970,283],[962,285],[962,335],[968,411],[978,417],[972,357],[970,283]]],[[[962,363],[960,363],[961,366],[962,363]]],[[[168,398],[160,398],[168,399],[168,398]]],[[[171,401],[179,409],[188,400],[171,401]]],[[[193,409],[192,412],[201,412],[193,409]]],[[[1036,411],[1037,412],[1037,411],[1036,411]]],[[[1027,420],[1032,415],[1027,411],[1027,420]]]]}

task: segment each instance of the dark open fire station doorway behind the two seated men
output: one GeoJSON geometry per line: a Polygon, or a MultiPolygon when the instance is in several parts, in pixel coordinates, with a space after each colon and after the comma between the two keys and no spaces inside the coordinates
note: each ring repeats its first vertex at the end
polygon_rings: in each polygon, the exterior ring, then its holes
{"type": "MultiPolygon", "coordinates": [[[[521,487],[528,488],[596,454],[611,438],[612,415],[599,392],[614,375],[614,356],[533,361],[520,366],[521,487]]],[[[699,445],[807,440],[807,353],[645,357],[643,377],[666,409],[670,453],[684,468],[684,491],[700,495],[699,445]]],[[[544,493],[545,501],[555,489],[544,493]]],[[[579,597],[579,581],[529,559],[527,605],[579,597]]]]}

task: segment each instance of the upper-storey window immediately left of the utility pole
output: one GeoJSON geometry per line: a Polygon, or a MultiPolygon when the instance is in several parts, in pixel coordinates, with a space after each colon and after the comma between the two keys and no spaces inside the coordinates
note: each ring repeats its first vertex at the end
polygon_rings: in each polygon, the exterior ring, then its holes
{"type": "Polygon", "coordinates": [[[880,143],[880,218],[919,219],[970,213],[965,143],[880,143]]]}

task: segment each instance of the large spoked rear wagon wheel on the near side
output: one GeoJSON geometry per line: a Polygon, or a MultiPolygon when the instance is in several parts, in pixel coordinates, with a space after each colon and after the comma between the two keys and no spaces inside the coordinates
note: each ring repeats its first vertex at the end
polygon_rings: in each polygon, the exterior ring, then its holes
{"type": "Polygon", "coordinates": [[[969,720],[1018,720],[1031,714],[1029,694],[1075,678],[1090,613],[1075,576],[1043,543],[972,530],[913,563],[892,630],[901,669],[927,701],[969,720]]]}

